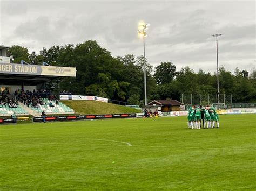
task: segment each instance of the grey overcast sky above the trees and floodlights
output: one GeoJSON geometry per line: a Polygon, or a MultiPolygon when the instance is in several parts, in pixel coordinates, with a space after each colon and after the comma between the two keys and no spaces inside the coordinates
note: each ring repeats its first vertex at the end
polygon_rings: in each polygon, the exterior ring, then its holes
{"type": "Polygon", "coordinates": [[[4,1],[0,0],[0,44],[30,52],[53,45],[96,40],[113,56],[143,55],[138,23],[150,23],[146,58],[155,67],[173,62],[214,72],[256,66],[255,1],[4,1]]]}

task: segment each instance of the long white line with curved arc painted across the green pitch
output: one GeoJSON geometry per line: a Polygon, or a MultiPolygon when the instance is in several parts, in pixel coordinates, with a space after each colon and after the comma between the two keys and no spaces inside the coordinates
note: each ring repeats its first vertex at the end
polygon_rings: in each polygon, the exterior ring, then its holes
{"type": "MultiPolygon", "coordinates": [[[[92,139],[94,140],[94,139],[92,139]]],[[[97,139],[98,140],[98,139],[97,139]]],[[[104,140],[104,139],[100,139],[104,140]]],[[[110,141],[110,140],[108,140],[110,141]]],[[[112,140],[111,140],[112,141],[112,140]]],[[[118,141],[114,141],[118,142],[118,141]]],[[[50,145],[102,145],[102,146],[125,146],[125,145],[109,145],[109,144],[89,144],[89,143],[49,143],[49,142],[0,142],[0,144],[9,143],[9,144],[50,144],[50,145]]],[[[126,142],[120,142],[126,143],[126,142]]],[[[152,148],[188,148],[188,149],[205,149],[205,150],[229,150],[229,151],[256,151],[255,149],[247,149],[247,148],[207,148],[207,147],[183,147],[183,146],[151,146],[151,145],[129,145],[132,147],[152,147],[152,148]]]]}

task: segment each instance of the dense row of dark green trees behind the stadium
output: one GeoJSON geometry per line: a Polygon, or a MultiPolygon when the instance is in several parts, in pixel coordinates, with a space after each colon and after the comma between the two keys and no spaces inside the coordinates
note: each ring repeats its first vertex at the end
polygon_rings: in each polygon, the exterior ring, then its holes
{"type": "MultiPolygon", "coordinates": [[[[33,65],[42,62],[52,66],[76,67],[77,77],[62,77],[48,82],[47,88],[58,94],[70,91],[74,95],[96,95],[143,105],[144,103],[144,58],[127,54],[113,57],[100,47],[97,41],[43,48],[39,54],[29,53],[28,48],[14,45],[8,56],[14,63],[24,60],[33,65]]],[[[146,63],[147,101],[178,100],[181,94],[217,94],[217,75],[190,67],[179,71],[172,62],[161,62],[156,68],[146,63]]],[[[256,72],[249,73],[236,68],[234,73],[219,67],[220,94],[232,94],[233,103],[256,102],[256,72]]]]}

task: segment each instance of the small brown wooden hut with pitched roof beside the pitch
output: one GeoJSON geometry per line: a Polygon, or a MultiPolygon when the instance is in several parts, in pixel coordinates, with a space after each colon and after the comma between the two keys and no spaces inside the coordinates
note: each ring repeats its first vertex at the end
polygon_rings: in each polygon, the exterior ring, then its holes
{"type": "Polygon", "coordinates": [[[159,109],[161,107],[161,112],[180,111],[181,108],[185,109],[185,105],[177,100],[153,100],[148,103],[145,108],[152,108],[153,106],[159,109]]]}

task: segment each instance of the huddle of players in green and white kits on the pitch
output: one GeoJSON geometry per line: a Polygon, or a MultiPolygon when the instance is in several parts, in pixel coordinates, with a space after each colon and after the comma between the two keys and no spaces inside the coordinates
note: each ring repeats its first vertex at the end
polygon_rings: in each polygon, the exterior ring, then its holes
{"type": "Polygon", "coordinates": [[[187,127],[191,129],[201,129],[201,122],[203,122],[203,128],[219,128],[219,116],[216,113],[214,107],[210,107],[207,105],[206,107],[202,107],[200,105],[196,108],[195,105],[188,110],[187,113],[187,127]]]}

